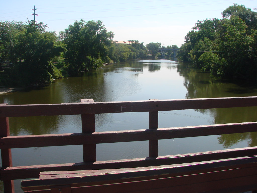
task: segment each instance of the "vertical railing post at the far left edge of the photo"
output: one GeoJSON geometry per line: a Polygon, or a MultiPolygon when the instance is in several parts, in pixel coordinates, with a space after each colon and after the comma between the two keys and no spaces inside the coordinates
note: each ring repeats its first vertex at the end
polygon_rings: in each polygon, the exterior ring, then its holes
{"type": "MultiPolygon", "coordinates": [[[[5,104],[0,104],[6,105],[5,104]]],[[[9,127],[9,118],[8,117],[0,117],[0,137],[10,136],[10,127],[9,127]]],[[[0,147],[3,144],[0,144],[0,147]]],[[[2,157],[2,167],[12,167],[12,152],[11,149],[1,149],[1,157],[2,157]]],[[[14,193],[14,183],[13,180],[4,180],[4,193],[14,193]]]]}

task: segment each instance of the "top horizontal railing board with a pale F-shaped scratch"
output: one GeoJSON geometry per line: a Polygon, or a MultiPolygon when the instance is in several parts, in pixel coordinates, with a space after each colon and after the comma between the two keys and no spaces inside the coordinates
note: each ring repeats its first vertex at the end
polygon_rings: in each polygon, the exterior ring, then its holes
{"type": "Polygon", "coordinates": [[[0,117],[82,115],[257,106],[257,96],[62,104],[1,105],[0,117]]]}

